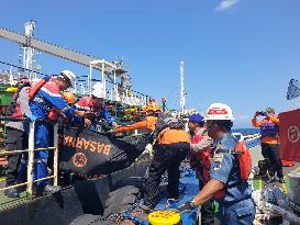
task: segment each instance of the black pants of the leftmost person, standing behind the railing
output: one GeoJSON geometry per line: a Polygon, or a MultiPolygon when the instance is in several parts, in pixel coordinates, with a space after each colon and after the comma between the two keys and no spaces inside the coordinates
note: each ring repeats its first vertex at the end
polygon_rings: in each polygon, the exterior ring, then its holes
{"type": "MultiPolygon", "coordinates": [[[[27,149],[27,135],[19,130],[8,127],[8,137],[5,139],[7,150],[27,149]]],[[[22,154],[14,154],[8,157],[8,169],[5,171],[7,187],[15,184],[18,170],[21,162],[22,154]]]]}

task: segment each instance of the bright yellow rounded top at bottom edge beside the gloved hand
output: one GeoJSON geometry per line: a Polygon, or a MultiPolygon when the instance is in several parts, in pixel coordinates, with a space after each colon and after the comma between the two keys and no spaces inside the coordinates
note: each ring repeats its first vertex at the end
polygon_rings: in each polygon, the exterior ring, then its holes
{"type": "Polygon", "coordinates": [[[155,211],[148,215],[149,225],[179,225],[180,214],[175,211],[155,211]]]}

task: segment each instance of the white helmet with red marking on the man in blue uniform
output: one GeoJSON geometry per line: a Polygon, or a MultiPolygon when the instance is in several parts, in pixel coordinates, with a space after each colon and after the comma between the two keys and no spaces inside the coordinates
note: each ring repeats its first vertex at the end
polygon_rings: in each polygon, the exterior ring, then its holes
{"type": "Polygon", "coordinates": [[[213,103],[207,110],[205,121],[233,121],[234,116],[229,105],[223,103],[213,103]]]}

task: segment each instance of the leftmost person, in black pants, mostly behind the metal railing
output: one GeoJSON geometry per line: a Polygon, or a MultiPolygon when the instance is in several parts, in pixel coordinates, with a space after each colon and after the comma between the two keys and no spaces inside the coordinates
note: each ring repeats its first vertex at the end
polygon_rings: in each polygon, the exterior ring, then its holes
{"type": "MultiPolygon", "coordinates": [[[[13,117],[22,117],[23,114],[31,113],[29,105],[29,88],[30,81],[26,77],[18,80],[18,91],[14,93],[13,103],[9,105],[7,115],[13,117]],[[19,109],[19,110],[18,110],[19,109]]],[[[24,150],[27,148],[27,134],[25,133],[25,122],[10,121],[7,127],[7,150],[24,150]]],[[[14,154],[8,156],[8,168],[5,170],[5,187],[14,185],[19,182],[19,166],[23,154],[14,154]]],[[[19,198],[16,188],[8,189],[4,194],[9,198],[19,198]]]]}

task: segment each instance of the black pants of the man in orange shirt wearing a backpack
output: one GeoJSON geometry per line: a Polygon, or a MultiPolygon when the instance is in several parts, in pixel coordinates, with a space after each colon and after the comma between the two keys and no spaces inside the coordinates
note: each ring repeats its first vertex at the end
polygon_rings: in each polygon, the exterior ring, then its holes
{"type": "Polygon", "coordinates": [[[189,143],[155,146],[154,158],[149,165],[144,204],[154,209],[158,203],[158,191],[162,176],[168,171],[168,198],[179,198],[180,162],[186,158],[189,143]]]}

